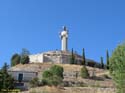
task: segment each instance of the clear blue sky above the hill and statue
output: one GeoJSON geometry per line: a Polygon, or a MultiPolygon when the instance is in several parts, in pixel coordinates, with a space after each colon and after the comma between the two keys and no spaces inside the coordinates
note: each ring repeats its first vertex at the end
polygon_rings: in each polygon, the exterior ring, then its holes
{"type": "Polygon", "coordinates": [[[27,48],[60,50],[58,33],[69,29],[69,50],[100,61],[125,39],[124,0],[0,0],[0,67],[27,48]]]}

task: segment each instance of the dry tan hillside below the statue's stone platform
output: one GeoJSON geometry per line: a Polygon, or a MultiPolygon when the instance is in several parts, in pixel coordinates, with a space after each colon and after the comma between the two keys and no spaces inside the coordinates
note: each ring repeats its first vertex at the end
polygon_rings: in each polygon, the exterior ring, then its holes
{"type": "MultiPolygon", "coordinates": [[[[42,72],[48,70],[52,65],[55,64],[52,63],[32,63],[25,65],[19,64],[10,68],[9,70],[18,72],[19,71],[38,72],[39,73],[38,77],[41,78],[42,72]]],[[[39,87],[30,89],[29,91],[31,92],[37,91],[36,93],[42,93],[39,92],[40,90],[47,91],[43,93],[59,93],[59,92],[60,93],[114,93],[113,91],[115,86],[107,70],[87,66],[90,78],[82,79],[80,77],[80,70],[82,66],[71,65],[71,64],[56,64],[56,65],[60,65],[64,68],[63,82],[67,87],[64,87],[63,89],[53,88],[53,87],[39,87]],[[76,77],[76,73],[78,73],[78,77],[76,77]],[[85,92],[80,92],[80,91],[85,91],[85,92]]],[[[29,91],[23,93],[29,93],[29,91]]]]}

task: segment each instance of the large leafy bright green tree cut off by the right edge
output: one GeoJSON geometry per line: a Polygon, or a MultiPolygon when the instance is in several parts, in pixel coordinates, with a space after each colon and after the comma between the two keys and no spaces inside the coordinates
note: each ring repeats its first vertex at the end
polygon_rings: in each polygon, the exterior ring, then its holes
{"type": "Polygon", "coordinates": [[[109,71],[115,81],[117,93],[125,93],[125,44],[119,45],[113,51],[109,71]]]}

